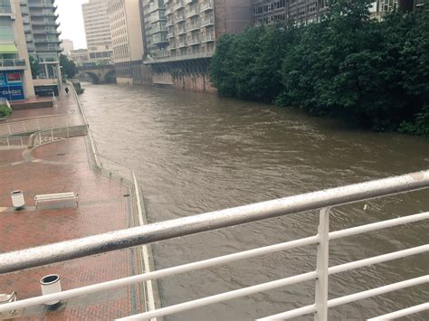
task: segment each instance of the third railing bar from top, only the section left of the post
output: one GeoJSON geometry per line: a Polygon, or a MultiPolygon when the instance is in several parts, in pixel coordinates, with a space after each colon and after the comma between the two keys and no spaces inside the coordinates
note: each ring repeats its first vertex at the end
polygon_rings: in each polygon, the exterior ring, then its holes
{"type": "Polygon", "coordinates": [[[286,279],[277,279],[275,281],[263,283],[263,284],[248,287],[248,288],[239,288],[234,291],[217,294],[211,297],[198,298],[196,300],[180,303],[175,306],[161,307],[155,311],[148,311],[135,316],[127,316],[127,317],[120,318],[119,320],[148,320],[152,317],[172,315],[178,312],[194,309],[196,307],[205,307],[214,303],[231,300],[237,297],[250,296],[255,293],[268,291],[274,288],[282,288],[282,287],[290,286],[292,284],[310,281],[312,279],[316,279],[317,276],[318,276],[318,273],[316,271],[313,271],[313,272],[300,274],[286,279]]]}

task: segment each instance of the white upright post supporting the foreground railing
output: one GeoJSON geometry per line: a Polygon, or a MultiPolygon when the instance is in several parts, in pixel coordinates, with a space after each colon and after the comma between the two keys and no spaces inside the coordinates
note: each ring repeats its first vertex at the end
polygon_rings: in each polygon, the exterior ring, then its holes
{"type": "Polygon", "coordinates": [[[329,212],[327,207],[321,209],[319,215],[315,321],[328,320],[329,212]]]}

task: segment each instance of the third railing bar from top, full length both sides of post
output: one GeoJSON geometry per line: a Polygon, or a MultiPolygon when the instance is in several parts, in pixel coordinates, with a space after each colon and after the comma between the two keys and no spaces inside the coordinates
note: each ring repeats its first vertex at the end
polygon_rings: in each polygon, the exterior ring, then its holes
{"type": "MultiPolygon", "coordinates": [[[[341,265],[329,268],[328,272],[329,272],[329,275],[331,275],[331,274],[335,274],[335,273],[339,273],[339,272],[348,271],[350,269],[357,269],[357,268],[361,268],[361,267],[366,267],[367,265],[382,263],[382,262],[386,262],[388,260],[396,260],[396,259],[400,259],[400,258],[405,258],[405,257],[410,256],[410,255],[422,253],[422,252],[424,252],[424,250],[427,250],[427,246],[419,246],[419,247],[416,247],[413,249],[408,249],[408,250],[399,250],[397,252],[379,255],[377,257],[373,257],[373,258],[369,258],[369,259],[358,260],[356,262],[352,262],[352,263],[357,263],[357,264],[353,264],[353,265],[350,263],[341,264],[341,265]]],[[[317,272],[316,271],[309,272],[309,273],[316,273],[316,278],[317,278],[317,272]]],[[[305,275],[307,275],[309,273],[306,273],[305,275]]],[[[304,274],[300,274],[300,276],[298,276],[298,277],[301,277],[303,275],[304,274]]],[[[287,279],[292,279],[292,278],[294,278],[294,277],[287,278],[287,279]]],[[[241,288],[241,289],[230,291],[230,292],[224,292],[224,293],[212,296],[212,297],[203,297],[200,299],[196,299],[194,301],[179,303],[175,306],[163,307],[163,308],[157,309],[156,311],[149,311],[149,312],[145,312],[145,313],[142,313],[142,314],[139,314],[136,316],[129,316],[129,317],[123,318],[123,320],[149,319],[152,317],[171,315],[171,314],[174,314],[177,312],[186,311],[186,310],[196,308],[196,307],[205,307],[207,305],[223,302],[226,300],[230,300],[232,298],[249,296],[251,294],[262,292],[262,291],[267,291],[269,289],[281,288],[284,286],[284,285],[282,285],[282,282],[284,280],[287,280],[287,279],[280,279],[277,281],[264,283],[262,285],[257,285],[257,286],[253,286],[253,287],[249,287],[249,288],[241,288]],[[276,282],[278,282],[278,283],[276,283],[276,282]],[[267,284],[270,284],[270,286],[267,288],[264,288],[263,286],[267,285],[267,284]],[[259,290],[257,292],[253,292],[253,290],[256,288],[258,288],[259,290]],[[252,289],[252,290],[247,292],[246,289],[252,289]],[[233,297],[230,297],[231,293],[234,294],[233,297]]],[[[305,280],[308,280],[308,279],[305,279],[305,280]]],[[[303,281],[304,280],[302,280],[300,282],[303,282],[303,281]]],[[[297,282],[293,282],[293,283],[297,283],[297,282]]],[[[290,284],[288,283],[287,285],[290,285],[290,284]]]]}

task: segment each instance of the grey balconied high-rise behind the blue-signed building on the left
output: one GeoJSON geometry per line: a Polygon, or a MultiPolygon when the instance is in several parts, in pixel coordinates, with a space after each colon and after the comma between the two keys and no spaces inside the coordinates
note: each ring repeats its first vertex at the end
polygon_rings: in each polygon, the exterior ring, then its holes
{"type": "MultiPolygon", "coordinates": [[[[27,49],[39,61],[39,79],[56,79],[61,82],[59,53],[62,52],[57,29],[59,15],[54,0],[21,0],[21,12],[27,49]]],[[[35,82],[34,82],[35,83],[35,82]]]]}

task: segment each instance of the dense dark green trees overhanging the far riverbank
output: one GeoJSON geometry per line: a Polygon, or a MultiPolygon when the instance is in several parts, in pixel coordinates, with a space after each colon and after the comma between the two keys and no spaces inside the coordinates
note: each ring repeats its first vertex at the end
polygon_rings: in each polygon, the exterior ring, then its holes
{"type": "Polygon", "coordinates": [[[331,0],[317,24],[225,35],[211,80],[221,95],[427,135],[429,5],[378,22],[369,15],[372,2],[331,0]]]}

